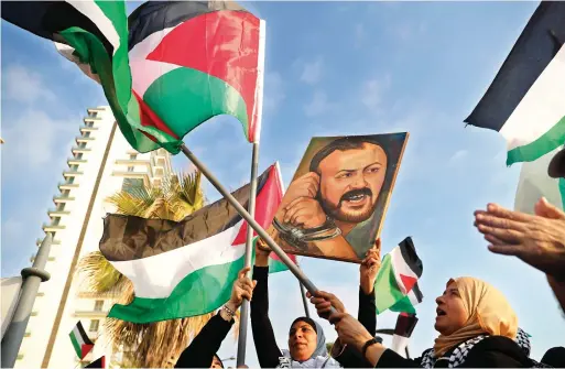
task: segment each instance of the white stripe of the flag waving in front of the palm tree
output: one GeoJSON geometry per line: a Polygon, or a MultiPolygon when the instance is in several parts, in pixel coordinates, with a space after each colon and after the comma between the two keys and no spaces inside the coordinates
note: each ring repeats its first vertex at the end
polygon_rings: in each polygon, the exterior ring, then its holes
{"type": "Polygon", "coordinates": [[[135,297],[169,297],[189,273],[221,265],[241,258],[246,245],[231,246],[243,221],[218,235],[154,257],[112,261],[111,264],[133,283],[135,297]]]}

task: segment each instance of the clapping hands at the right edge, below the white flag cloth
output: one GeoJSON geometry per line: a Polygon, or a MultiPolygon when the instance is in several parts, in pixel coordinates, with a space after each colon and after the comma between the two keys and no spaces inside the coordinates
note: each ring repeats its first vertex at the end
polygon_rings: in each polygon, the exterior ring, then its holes
{"type": "Polygon", "coordinates": [[[535,214],[489,204],[475,211],[475,226],[495,253],[514,256],[556,279],[565,279],[565,213],[542,198],[535,214]]]}

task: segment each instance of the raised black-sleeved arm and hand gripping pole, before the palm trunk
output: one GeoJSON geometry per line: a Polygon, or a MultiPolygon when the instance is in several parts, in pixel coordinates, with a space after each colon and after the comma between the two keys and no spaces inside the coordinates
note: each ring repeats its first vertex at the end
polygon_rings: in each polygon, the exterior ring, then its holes
{"type": "Polygon", "coordinates": [[[216,352],[231,329],[235,323],[233,316],[243,303],[243,299],[251,300],[253,295],[257,282],[246,276],[250,269],[243,268],[239,271],[238,279],[233,282],[230,300],[218,314],[206,323],[191,345],[181,354],[175,368],[224,368],[224,363],[216,352]]]}

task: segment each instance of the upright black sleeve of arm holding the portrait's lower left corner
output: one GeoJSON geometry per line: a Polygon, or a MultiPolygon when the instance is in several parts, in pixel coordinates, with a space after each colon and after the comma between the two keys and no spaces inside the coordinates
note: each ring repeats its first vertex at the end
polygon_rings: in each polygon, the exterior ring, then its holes
{"type": "Polygon", "coordinates": [[[269,319],[269,267],[254,267],[253,280],[257,285],[251,299],[251,330],[256,344],[257,358],[261,368],[275,368],[282,356],[269,319]]]}

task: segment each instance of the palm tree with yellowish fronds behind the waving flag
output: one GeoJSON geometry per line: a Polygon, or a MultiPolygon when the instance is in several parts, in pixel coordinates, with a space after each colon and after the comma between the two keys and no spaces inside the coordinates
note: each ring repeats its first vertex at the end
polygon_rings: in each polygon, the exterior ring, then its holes
{"type": "MultiPolygon", "coordinates": [[[[171,174],[160,186],[122,189],[108,202],[116,206],[118,214],[180,221],[204,206],[200,180],[199,172],[171,174]]],[[[111,296],[119,304],[129,304],[133,300],[131,282],[100,251],[85,256],[77,270],[86,276],[90,291],[111,296]]],[[[213,313],[151,324],[107,318],[105,330],[113,349],[124,352],[123,367],[172,368],[211,316],[213,313]]],[[[237,327],[235,332],[238,332],[237,327]]]]}

